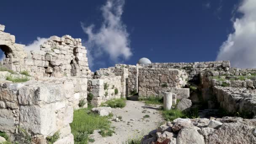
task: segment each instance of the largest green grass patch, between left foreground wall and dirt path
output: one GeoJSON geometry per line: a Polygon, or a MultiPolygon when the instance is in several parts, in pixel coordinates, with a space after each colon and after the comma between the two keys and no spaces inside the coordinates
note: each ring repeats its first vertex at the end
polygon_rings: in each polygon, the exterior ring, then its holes
{"type": "Polygon", "coordinates": [[[74,135],[75,144],[88,144],[88,141],[93,141],[93,139],[89,138],[89,135],[94,130],[100,129],[102,136],[109,136],[114,133],[108,117],[100,117],[88,112],[91,108],[92,106],[89,104],[88,108],[74,111],[73,122],[70,124],[70,127],[71,133],[74,135]]]}

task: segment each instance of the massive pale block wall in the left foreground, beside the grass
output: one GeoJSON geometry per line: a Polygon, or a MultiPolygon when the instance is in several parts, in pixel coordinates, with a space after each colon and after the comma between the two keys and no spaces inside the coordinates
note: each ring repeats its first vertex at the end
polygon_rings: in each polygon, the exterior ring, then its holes
{"type": "Polygon", "coordinates": [[[81,99],[86,102],[86,98],[86,78],[0,83],[0,131],[12,135],[13,140],[19,140],[16,137],[18,128],[44,138],[59,131],[60,138],[56,144],[63,141],[72,144],[69,123],[73,120],[73,109],[78,108],[81,99]]]}

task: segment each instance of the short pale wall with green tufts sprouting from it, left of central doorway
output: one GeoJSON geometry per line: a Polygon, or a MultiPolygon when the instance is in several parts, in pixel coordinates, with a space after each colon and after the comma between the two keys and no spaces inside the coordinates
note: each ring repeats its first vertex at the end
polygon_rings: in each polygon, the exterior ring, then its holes
{"type": "Polygon", "coordinates": [[[98,79],[88,79],[88,93],[93,94],[93,100],[91,104],[99,106],[102,102],[109,99],[121,98],[121,76],[101,76],[98,79]],[[104,85],[108,87],[104,88],[104,85]],[[115,89],[118,93],[115,94],[115,89]]]}

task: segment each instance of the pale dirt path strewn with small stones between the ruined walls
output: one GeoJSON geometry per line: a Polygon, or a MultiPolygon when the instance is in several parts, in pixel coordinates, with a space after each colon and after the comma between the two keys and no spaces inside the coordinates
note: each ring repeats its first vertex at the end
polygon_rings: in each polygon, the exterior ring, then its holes
{"type": "Polygon", "coordinates": [[[158,108],[159,106],[146,106],[141,101],[126,101],[124,108],[113,108],[112,119],[121,115],[123,121],[112,121],[112,126],[115,127],[113,136],[101,137],[98,131],[94,131],[91,135],[91,138],[95,139],[93,144],[123,144],[128,139],[146,135],[163,122],[158,108]],[[149,117],[143,118],[144,115],[149,115],[149,117]]]}

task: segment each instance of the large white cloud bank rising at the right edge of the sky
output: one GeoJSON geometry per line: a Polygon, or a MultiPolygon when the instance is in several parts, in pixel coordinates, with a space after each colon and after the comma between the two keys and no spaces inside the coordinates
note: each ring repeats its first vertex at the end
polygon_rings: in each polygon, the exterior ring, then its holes
{"type": "Polygon", "coordinates": [[[217,60],[230,60],[232,67],[256,68],[256,0],[243,0],[243,13],[233,21],[234,32],[221,45],[217,60]]]}

